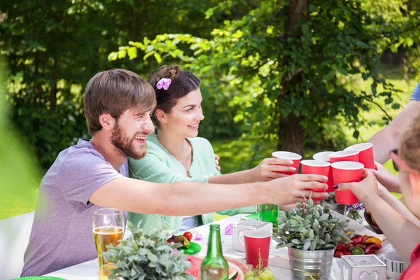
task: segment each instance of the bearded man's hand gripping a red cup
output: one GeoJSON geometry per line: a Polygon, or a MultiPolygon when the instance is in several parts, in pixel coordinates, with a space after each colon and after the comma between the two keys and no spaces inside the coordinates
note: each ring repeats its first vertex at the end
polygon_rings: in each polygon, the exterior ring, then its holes
{"type": "Polygon", "coordinates": [[[319,197],[325,199],[328,193],[314,192],[309,189],[327,190],[328,177],[316,174],[295,174],[267,182],[272,188],[273,204],[286,206],[296,202],[304,202],[303,197],[319,197]],[[312,193],[312,194],[311,194],[312,193]]]}

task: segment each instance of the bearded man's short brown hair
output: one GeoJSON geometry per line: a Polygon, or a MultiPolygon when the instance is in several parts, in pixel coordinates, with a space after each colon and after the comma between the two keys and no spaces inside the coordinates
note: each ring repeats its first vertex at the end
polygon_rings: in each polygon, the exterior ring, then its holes
{"type": "Polygon", "coordinates": [[[152,111],[156,97],[153,87],[137,73],[113,69],[99,72],[89,80],[84,104],[87,130],[93,135],[102,130],[99,116],[103,113],[118,120],[127,109],[152,111]]]}

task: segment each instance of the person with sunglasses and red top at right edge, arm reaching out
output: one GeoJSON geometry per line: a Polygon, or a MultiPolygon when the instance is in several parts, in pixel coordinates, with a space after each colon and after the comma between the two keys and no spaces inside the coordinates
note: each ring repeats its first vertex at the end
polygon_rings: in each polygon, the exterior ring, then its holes
{"type": "Polygon", "coordinates": [[[379,228],[402,259],[410,263],[400,280],[420,279],[420,115],[400,137],[398,155],[391,159],[399,169],[399,182],[405,205],[382,186],[372,172],[365,179],[342,183],[339,190],[351,190],[374,216],[379,228]]]}

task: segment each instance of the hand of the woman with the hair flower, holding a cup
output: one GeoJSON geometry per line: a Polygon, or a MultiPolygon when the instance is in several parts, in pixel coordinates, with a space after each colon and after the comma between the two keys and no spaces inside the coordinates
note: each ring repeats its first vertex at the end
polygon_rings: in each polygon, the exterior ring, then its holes
{"type": "Polygon", "coordinates": [[[251,172],[253,172],[253,177],[258,179],[255,181],[270,181],[272,179],[288,176],[277,172],[295,172],[295,167],[291,167],[290,165],[293,165],[292,160],[265,158],[257,167],[251,169],[251,172]]]}

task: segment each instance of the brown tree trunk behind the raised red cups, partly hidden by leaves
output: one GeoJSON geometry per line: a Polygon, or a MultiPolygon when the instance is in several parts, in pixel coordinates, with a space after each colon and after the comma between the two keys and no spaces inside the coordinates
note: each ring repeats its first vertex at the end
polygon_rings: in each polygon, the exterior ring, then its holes
{"type": "MultiPolygon", "coordinates": [[[[290,5],[286,6],[286,22],[284,24],[286,36],[300,37],[302,29],[297,25],[300,20],[307,20],[309,15],[309,0],[290,0],[290,5]]],[[[283,63],[288,64],[288,59],[284,59],[283,63]]],[[[293,85],[300,83],[302,80],[302,71],[296,73],[288,73],[282,83],[292,83],[293,85]]],[[[297,87],[288,87],[297,88],[297,87]]],[[[285,92],[285,94],[300,95],[300,92],[285,92]]],[[[303,155],[304,129],[300,126],[302,117],[297,117],[290,113],[288,116],[280,116],[279,119],[279,151],[289,151],[303,155]]]]}

